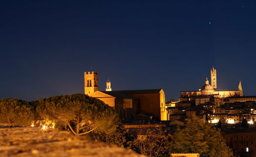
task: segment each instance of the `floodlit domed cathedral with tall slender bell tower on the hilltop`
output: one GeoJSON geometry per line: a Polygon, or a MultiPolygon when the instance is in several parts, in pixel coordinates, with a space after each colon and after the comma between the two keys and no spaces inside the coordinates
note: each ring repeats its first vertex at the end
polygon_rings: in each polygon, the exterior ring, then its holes
{"type": "Polygon", "coordinates": [[[196,104],[204,103],[209,101],[210,97],[214,98],[225,98],[234,96],[243,96],[243,89],[241,81],[239,82],[238,89],[235,90],[218,90],[217,89],[217,71],[212,68],[211,74],[211,85],[206,78],[205,84],[198,91],[181,91],[180,101],[195,101],[196,104]]]}

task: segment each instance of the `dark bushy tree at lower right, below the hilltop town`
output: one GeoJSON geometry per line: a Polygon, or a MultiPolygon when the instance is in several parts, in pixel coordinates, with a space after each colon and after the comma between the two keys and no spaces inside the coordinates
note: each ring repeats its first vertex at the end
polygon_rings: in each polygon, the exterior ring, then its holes
{"type": "Polygon", "coordinates": [[[200,153],[200,156],[233,156],[220,130],[196,116],[187,119],[183,129],[177,129],[169,143],[169,149],[173,153],[200,153]]]}

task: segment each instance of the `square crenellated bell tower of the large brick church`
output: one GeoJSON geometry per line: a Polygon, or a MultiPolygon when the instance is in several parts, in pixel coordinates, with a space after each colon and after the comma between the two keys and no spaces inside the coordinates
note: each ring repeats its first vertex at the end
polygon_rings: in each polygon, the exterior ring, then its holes
{"type": "Polygon", "coordinates": [[[90,95],[98,91],[98,73],[84,72],[84,94],[90,95]]]}

